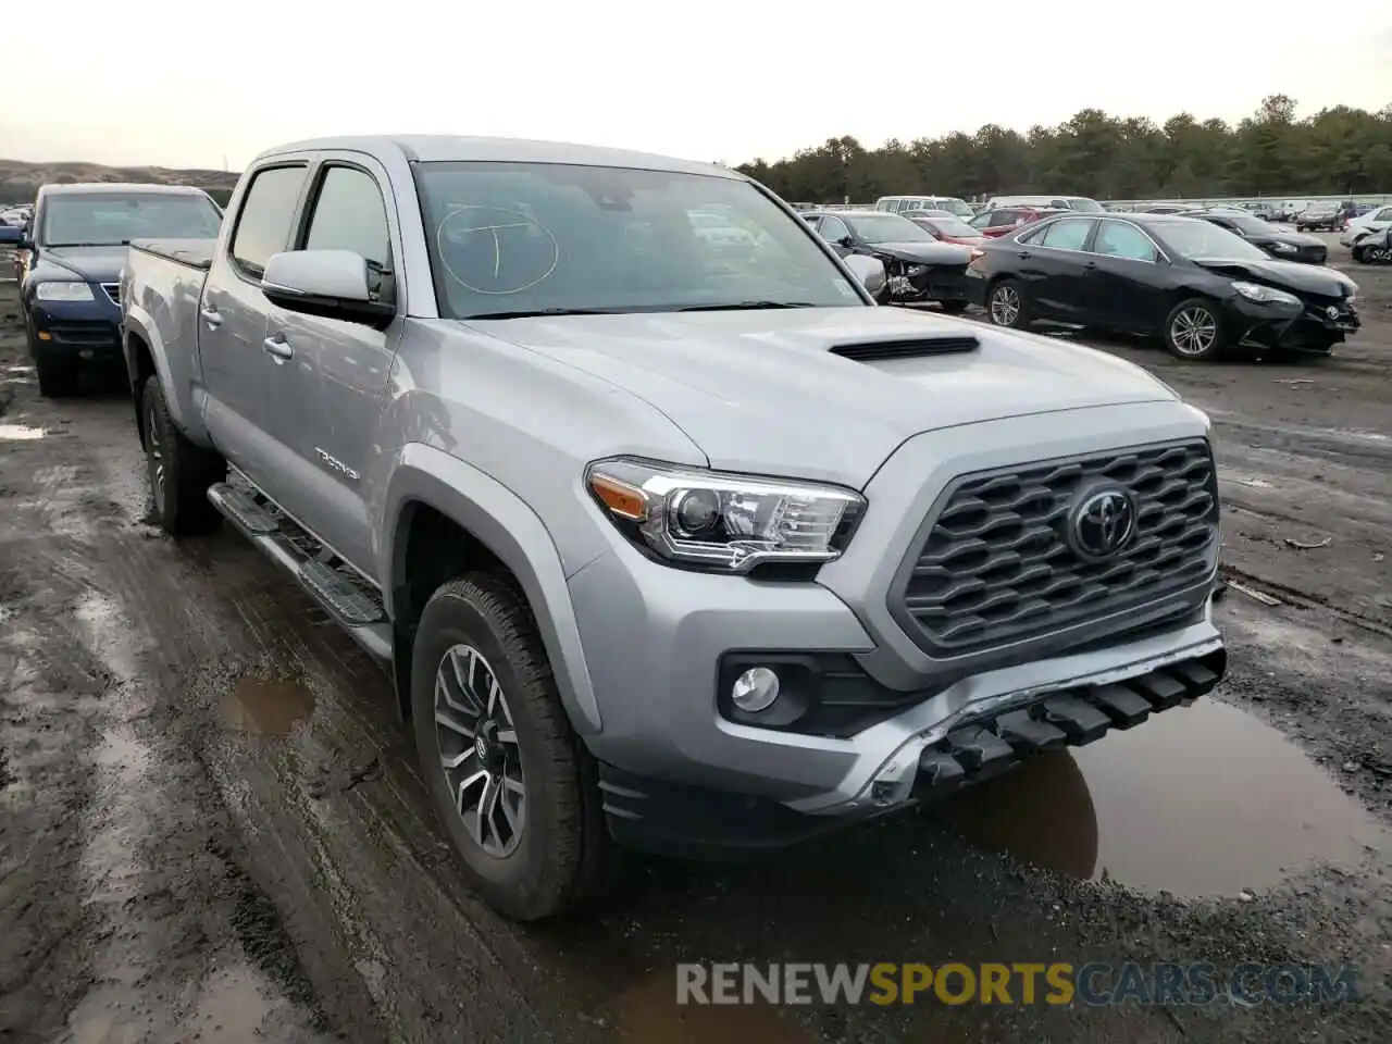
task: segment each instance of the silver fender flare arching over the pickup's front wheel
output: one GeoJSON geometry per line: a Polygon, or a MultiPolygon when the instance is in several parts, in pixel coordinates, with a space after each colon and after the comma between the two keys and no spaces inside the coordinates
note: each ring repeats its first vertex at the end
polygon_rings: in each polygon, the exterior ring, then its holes
{"type": "Polygon", "coordinates": [[[576,732],[603,728],[594,685],[585,663],[580,631],[561,554],[551,533],[512,490],[470,464],[423,443],[408,443],[397,458],[383,503],[384,539],[379,576],[388,615],[397,578],[405,569],[402,523],[415,504],[434,508],[482,541],[512,571],[536,617],[561,703],[576,732]]]}

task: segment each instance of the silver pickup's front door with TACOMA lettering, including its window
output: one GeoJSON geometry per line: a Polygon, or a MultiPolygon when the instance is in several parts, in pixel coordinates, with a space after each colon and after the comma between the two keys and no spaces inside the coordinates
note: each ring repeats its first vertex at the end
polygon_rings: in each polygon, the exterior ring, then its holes
{"type": "MultiPolygon", "coordinates": [[[[327,153],[313,173],[295,248],[352,251],[377,292],[400,299],[393,259],[401,256],[401,239],[383,202],[386,184],[386,171],[366,157],[327,153]]],[[[294,468],[294,483],[277,500],[369,576],[373,437],[400,331],[400,319],[383,331],[280,308],[266,330],[277,361],[270,393],[277,441],[294,468]]]]}

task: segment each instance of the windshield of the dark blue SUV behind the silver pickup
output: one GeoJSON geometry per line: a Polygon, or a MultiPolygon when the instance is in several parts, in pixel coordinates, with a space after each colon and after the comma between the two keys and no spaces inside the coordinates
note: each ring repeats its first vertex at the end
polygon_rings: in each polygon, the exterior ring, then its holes
{"type": "Polygon", "coordinates": [[[214,239],[223,216],[203,195],[81,192],[43,203],[45,246],[124,246],[131,239],[214,239]]]}

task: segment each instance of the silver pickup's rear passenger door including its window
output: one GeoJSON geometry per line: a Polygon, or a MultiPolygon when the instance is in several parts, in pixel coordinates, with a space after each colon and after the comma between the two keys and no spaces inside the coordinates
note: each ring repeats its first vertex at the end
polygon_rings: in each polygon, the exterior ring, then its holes
{"type": "Polygon", "coordinates": [[[264,348],[270,302],[260,277],[270,256],[291,241],[308,174],[306,161],[274,161],[252,175],[199,302],[207,430],[223,455],[259,486],[276,470],[270,434],[276,416],[269,397],[273,363],[264,348]]]}

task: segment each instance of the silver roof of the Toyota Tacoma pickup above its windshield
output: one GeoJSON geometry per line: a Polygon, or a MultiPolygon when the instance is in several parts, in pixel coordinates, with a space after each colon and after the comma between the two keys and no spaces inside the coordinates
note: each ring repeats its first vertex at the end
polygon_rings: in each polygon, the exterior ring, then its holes
{"type": "Polygon", "coordinates": [[[359,135],[351,138],[310,138],[267,149],[256,160],[290,152],[365,152],[380,155],[397,150],[408,161],[440,163],[473,160],[482,163],[575,163],[589,167],[638,167],[681,174],[707,174],[743,180],[743,174],[713,163],[679,160],[628,149],[606,149],[597,145],[567,142],[539,142],[525,138],[466,138],[447,134],[359,135]]]}

